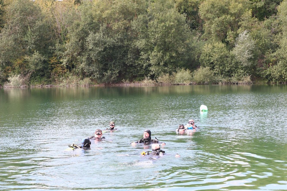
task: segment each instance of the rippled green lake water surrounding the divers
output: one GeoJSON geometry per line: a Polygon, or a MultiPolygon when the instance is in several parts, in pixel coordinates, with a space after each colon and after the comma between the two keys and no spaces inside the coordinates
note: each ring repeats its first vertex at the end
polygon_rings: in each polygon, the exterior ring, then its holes
{"type": "Polygon", "coordinates": [[[286,108],[286,85],[0,89],[0,190],[287,190],[286,108]],[[131,146],[145,129],[165,155],[131,146]]]}

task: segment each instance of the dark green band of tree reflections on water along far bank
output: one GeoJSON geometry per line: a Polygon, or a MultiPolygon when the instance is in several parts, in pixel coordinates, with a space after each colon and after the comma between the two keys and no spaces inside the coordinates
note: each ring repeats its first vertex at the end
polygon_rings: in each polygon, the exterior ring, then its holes
{"type": "MultiPolygon", "coordinates": [[[[272,84],[272,92],[282,91],[287,87],[272,84]]],[[[257,85],[180,85],[180,86],[85,86],[85,87],[49,87],[49,88],[3,88],[2,91],[7,97],[22,99],[23,97],[33,96],[36,98],[57,97],[63,99],[74,99],[75,96],[81,98],[106,98],[106,97],[127,97],[127,96],[146,96],[153,94],[228,94],[234,92],[245,92],[257,90],[257,85]]],[[[270,85],[260,85],[262,88],[270,91],[270,85]]]]}

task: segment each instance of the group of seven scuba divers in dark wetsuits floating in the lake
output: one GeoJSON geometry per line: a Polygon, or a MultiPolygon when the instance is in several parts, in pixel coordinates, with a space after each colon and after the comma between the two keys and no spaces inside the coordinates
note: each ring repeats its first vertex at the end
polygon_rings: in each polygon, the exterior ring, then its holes
{"type": "MultiPolygon", "coordinates": [[[[117,129],[115,129],[115,122],[110,121],[109,126],[110,126],[110,128],[106,128],[105,131],[117,130],[117,129]]],[[[189,131],[189,130],[194,132],[197,128],[199,128],[199,127],[197,127],[194,124],[194,120],[190,119],[186,125],[183,125],[183,124],[179,125],[179,127],[176,129],[176,132],[179,134],[184,134],[184,133],[186,133],[186,131],[189,131]]],[[[145,145],[151,144],[152,145],[152,151],[143,151],[143,152],[141,152],[141,155],[164,155],[165,151],[160,149],[160,145],[164,146],[165,143],[158,141],[157,138],[152,139],[151,135],[152,135],[151,131],[147,129],[144,131],[143,138],[139,139],[138,141],[131,142],[131,145],[135,146],[137,143],[143,143],[145,145]]],[[[94,139],[94,140],[105,139],[105,137],[102,137],[102,130],[96,129],[94,136],[90,136],[88,138],[82,139],[82,145],[76,145],[73,143],[73,144],[68,145],[68,146],[71,147],[72,149],[88,150],[88,149],[90,149],[92,139],[94,139]]],[[[180,157],[180,155],[176,154],[175,157],[180,157]]]]}

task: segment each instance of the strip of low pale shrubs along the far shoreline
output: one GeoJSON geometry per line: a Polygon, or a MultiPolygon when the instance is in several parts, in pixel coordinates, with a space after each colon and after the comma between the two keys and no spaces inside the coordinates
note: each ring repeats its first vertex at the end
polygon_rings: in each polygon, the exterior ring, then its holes
{"type": "MultiPolygon", "coordinates": [[[[29,84],[20,75],[9,78],[9,82],[5,82],[3,87],[51,87],[51,86],[141,86],[141,85],[191,85],[191,84],[252,84],[265,83],[253,82],[250,76],[242,76],[241,78],[223,78],[215,76],[209,67],[199,68],[194,72],[189,69],[178,69],[172,74],[162,74],[156,80],[145,78],[139,81],[122,80],[114,83],[97,83],[96,80],[90,78],[78,78],[70,75],[66,78],[57,78],[53,82],[42,82],[39,84],[29,84]]],[[[1,87],[1,86],[0,86],[1,87]]]]}

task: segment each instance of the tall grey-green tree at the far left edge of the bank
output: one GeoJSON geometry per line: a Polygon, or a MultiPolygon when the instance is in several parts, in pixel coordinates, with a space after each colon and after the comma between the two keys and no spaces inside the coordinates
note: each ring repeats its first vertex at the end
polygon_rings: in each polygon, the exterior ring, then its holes
{"type": "Polygon", "coordinates": [[[11,1],[6,10],[6,24],[0,34],[0,67],[7,72],[6,77],[14,73],[28,79],[40,69],[31,65],[29,57],[38,51],[45,52],[47,47],[41,9],[33,1],[17,0],[11,1]]]}

